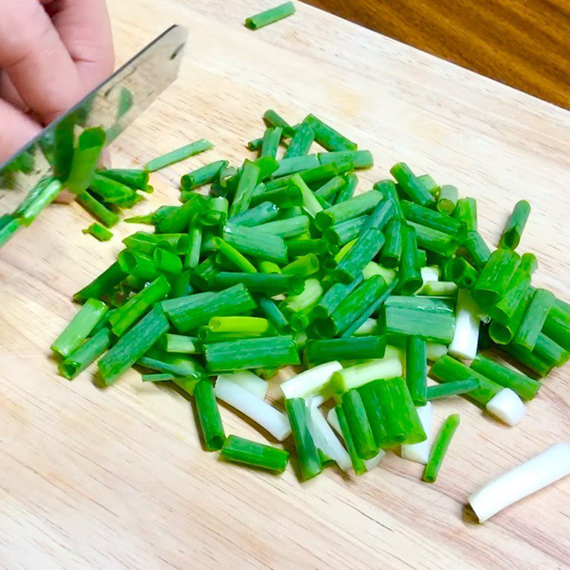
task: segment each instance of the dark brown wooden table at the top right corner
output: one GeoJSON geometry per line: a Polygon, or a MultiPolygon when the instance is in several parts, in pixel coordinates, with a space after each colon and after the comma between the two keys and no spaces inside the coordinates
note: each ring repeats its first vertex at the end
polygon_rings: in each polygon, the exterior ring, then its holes
{"type": "Polygon", "coordinates": [[[570,0],[306,0],[570,108],[570,0]]]}

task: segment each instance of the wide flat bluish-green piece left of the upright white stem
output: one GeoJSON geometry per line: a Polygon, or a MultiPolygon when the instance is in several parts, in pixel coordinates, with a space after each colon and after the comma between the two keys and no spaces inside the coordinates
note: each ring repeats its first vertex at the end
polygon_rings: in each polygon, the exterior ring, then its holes
{"type": "Polygon", "coordinates": [[[449,344],[455,331],[454,308],[442,299],[390,296],[384,318],[388,334],[419,336],[435,343],[449,344]]]}

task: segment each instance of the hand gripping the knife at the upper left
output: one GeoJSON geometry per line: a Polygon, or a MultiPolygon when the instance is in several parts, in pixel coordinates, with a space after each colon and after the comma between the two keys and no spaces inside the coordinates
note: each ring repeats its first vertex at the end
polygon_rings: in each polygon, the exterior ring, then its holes
{"type": "Polygon", "coordinates": [[[0,162],[114,65],[105,0],[0,0],[0,162]]]}

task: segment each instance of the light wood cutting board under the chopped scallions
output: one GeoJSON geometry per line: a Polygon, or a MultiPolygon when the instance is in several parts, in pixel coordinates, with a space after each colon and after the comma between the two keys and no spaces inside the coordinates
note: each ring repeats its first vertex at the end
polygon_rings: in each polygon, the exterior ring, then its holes
{"type": "MultiPolygon", "coordinates": [[[[523,249],[536,281],[570,300],[567,238],[570,115],[310,6],[258,32],[245,16],[267,0],[112,0],[125,61],[172,22],[192,41],[180,81],[115,146],[115,165],[137,165],[188,140],[217,148],[154,177],[138,212],[174,202],[175,182],[218,157],[241,162],[275,108],[312,111],[377,164],[363,188],[405,160],[477,197],[480,226],[496,242],[509,209],[530,199],[523,249]]],[[[438,404],[462,425],[435,484],[390,454],[358,478],[327,470],[299,484],[202,451],[190,402],[138,373],[98,390],[84,374],[58,378],[48,346],[76,311],[70,302],[114,259],[83,236],[81,209],[54,205],[0,253],[0,567],[2,569],[429,569],[569,568],[570,480],[487,524],[465,514],[490,478],[570,440],[569,369],[544,382],[527,418],[504,427],[459,399],[438,404]]],[[[223,410],[228,433],[264,438],[223,410]]]]}

